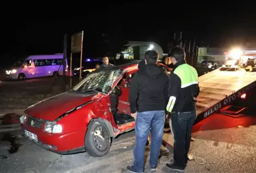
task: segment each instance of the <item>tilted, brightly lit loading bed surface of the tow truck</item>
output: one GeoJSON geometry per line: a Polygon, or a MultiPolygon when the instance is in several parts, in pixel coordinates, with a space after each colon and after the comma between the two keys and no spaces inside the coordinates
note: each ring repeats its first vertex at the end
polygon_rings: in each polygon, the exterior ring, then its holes
{"type": "MultiPolygon", "coordinates": [[[[198,77],[200,94],[197,97],[197,119],[202,119],[214,114],[221,108],[231,105],[235,99],[256,87],[256,72],[221,71],[220,68],[198,77]]],[[[168,129],[165,129],[168,131],[168,129]]],[[[163,141],[173,146],[173,135],[165,133],[163,141]]]]}

